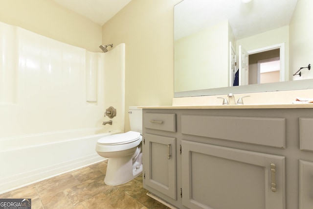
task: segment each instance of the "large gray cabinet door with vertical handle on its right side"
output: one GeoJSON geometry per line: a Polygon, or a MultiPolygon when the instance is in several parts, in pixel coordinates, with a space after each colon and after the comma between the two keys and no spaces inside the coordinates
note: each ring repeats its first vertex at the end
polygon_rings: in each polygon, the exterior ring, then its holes
{"type": "Polygon", "coordinates": [[[182,204],[285,209],[285,157],[182,140],[182,204]]]}

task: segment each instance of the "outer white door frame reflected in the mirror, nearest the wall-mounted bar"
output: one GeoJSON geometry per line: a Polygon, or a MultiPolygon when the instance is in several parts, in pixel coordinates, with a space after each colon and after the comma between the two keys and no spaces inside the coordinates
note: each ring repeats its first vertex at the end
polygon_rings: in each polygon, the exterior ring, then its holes
{"type": "Polygon", "coordinates": [[[247,51],[248,54],[256,54],[264,51],[269,51],[279,48],[279,56],[280,56],[280,71],[279,71],[279,81],[285,81],[285,43],[276,44],[272,46],[266,46],[263,48],[257,48],[253,50],[247,51]]]}

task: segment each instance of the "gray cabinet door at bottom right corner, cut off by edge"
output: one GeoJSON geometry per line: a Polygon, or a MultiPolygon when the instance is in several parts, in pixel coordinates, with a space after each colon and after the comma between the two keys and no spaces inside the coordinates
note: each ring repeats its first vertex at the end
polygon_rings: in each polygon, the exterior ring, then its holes
{"type": "Polygon", "coordinates": [[[299,209],[313,208],[313,162],[299,161],[299,209]]]}

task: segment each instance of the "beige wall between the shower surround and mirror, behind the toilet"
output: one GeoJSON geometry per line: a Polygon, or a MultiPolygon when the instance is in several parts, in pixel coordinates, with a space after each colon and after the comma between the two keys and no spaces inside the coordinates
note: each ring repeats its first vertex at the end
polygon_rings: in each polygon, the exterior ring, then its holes
{"type": "MultiPolygon", "coordinates": [[[[103,44],[126,44],[126,109],[172,104],[173,6],[179,1],[132,0],[102,26],[103,44]]],[[[125,124],[127,131],[128,114],[125,124]]]]}

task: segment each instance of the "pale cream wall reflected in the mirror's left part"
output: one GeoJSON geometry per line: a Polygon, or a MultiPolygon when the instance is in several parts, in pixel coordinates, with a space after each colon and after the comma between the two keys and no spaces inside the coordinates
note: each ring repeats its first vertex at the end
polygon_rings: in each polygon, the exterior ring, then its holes
{"type": "Polygon", "coordinates": [[[175,92],[228,85],[229,28],[226,20],[175,41],[175,92]]]}

